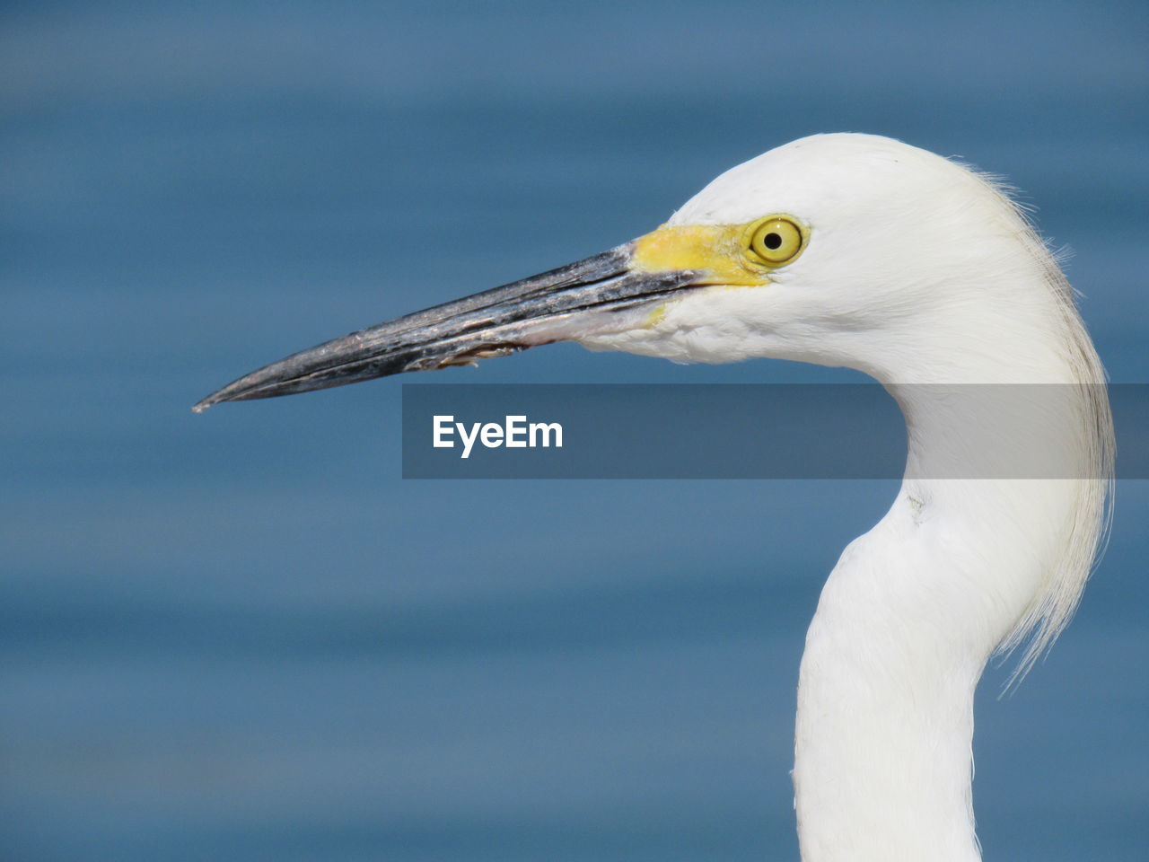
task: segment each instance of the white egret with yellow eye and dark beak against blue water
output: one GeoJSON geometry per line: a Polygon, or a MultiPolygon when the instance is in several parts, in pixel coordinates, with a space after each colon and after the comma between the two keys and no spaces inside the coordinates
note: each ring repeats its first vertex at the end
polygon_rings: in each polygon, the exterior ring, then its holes
{"type": "Polygon", "coordinates": [[[1032,632],[1024,670],[1067,623],[1112,468],[1101,362],[1018,208],[986,177],[895,140],[803,138],[723,174],[632,243],[288,356],[195,409],[558,340],[846,365],[893,393],[905,478],[831,572],[802,657],[802,859],[978,860],[974,687],[995,649],[1032,632]],[[1066,384],[1052,424],[1075,478],[932,477],[938,452],[988,445],[1010,459],[1049,431],[1034,418],[987,444],[953,384],[1066,384]]]}

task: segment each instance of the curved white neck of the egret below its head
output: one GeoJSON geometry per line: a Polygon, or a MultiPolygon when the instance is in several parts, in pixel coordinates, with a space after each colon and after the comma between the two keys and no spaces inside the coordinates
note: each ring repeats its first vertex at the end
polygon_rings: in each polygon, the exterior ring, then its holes
{"type": "Polygon", "coordinates": [[[866,368],[902,408],[907,471],[886,516],[842,553],[807,634],[793,774],[803,862],[980,859],[974,690],[1017,633],[1039,626],[1025,668],[1064,625],[1105,494],[1101,365],[1047,261],[1032,263],[1008,294],[977,291],[982,305],[939,318],[964,332],[1008,321],[1002,337],[921,331],[907,336],[912,364],[866,368]],[[1057,477],[1016,478],[1019,463],[1057,477]]]}

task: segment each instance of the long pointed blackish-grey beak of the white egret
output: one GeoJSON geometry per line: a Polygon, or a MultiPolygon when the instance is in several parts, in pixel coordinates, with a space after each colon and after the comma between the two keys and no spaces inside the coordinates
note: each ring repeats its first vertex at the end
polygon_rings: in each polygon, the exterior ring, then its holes
{"type": "MultiPolygon", "coordinates": [[[[192,409],[290,395],[504,356],[617,329],[627,309],[705,283],[701,270],[632,268],[635,243],[321,344],[240,377],[192,409]],[[701,283],[701,284],[700,284],[701,283]]],[[[625,328],[625,326],[624,326],[625,328]]]]}

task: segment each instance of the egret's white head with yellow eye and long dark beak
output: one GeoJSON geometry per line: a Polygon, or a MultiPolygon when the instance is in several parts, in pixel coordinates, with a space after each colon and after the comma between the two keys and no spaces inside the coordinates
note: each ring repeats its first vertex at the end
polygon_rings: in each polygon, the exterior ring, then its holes
{"type": "MultiPolygon", "coordinates": [[[[1015,207],[969,169],[888,138],[819,134],[723,174],[631,243],[294,354],[195,409],[554,341],[888,378],[921,345],[971,330],[995,337],[995,285],[1018,269],[1041,284],[1043,254],[1015,207]]],[[[1030,303],[1021,293],[1008,301],[1030,303]]]]}

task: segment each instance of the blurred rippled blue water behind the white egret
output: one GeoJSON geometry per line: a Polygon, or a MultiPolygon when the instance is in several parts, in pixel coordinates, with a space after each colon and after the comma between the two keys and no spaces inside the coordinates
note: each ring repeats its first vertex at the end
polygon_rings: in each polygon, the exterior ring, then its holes
{"type": "MultiPolygon", "coordinates": [[[[796,860],[805,624],[896,483],[402,482],[391,382],[188,407],[836,130],[1025,190],[1147,382],[1147,47],[1133,2],[6,3],[0,856],[796,860]]],[[[1147,485],[982,686],[988,859],[1144,859],[1147,485]]]]}

